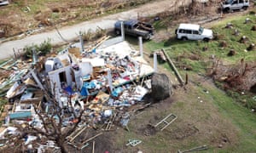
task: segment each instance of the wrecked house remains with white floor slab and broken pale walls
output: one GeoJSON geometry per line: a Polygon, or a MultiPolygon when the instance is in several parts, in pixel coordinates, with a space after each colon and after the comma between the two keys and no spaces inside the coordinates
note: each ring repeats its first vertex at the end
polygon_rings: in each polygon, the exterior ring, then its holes
{"type": "MultiPolygon", "coordinates": [[[[67,48],[47,59],[44,67],[51,91],[62,107],[67,104],[63,97],[77,93],[85,98],[151,75],[153,68],[137,54],[129,43],[110,39],[90,54],[81,54],[80,48],[67,48]]],[[[75,97],[72,101],[81,99],[75,97]]]]}

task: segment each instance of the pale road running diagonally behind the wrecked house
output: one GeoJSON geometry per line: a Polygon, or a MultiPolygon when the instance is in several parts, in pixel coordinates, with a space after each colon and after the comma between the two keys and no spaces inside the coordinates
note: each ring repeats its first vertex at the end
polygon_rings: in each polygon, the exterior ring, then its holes
{"type": "MultiPolygon", "coordinates": [[[[103,29],[110,29],[110,28],[113,28],[113,24],[116,20],[136,19],[137,13],[139,13],[140,16],[154,15],[160,12],[164,12],[166,10],[177,8],[178,6],[183,5],[184,3],[189,3],[189,0],[183,0],[180,2],[178,0],[176,1],[163,0],[160,2],[148,3],[138,8],[134,8],[119,14],[112,14],[112,15],[101,17],[99,19],[85,21],[74,26],[65,26],[60,28],[59,31],[61,33],[61,36],[65,40],[70,41],[79,36],[79,31],[88,31],[89,29],[91,29],[92,31],[95,31],[97,26],[103,29]],[[178,3],[176,3],[176,1],[178,3]],[[174,3],[176,3],[175,7],[174,7],[174,3]]],[[[24,48],[26,45],[40,44],[41,42],[44,42],[44,40],[47,40],[48,38],[51,40],[51,43],[54,45],[61,42],[65,42],[61,38],[61,36],[58,34],[56,30],[53,30],[53,31],[47,31],[47,32],[35,34],[32,36],[28,36],[20,40],[0,43],[0,54],[1,54],[0,59],[5,59],[13,56],[14,49],[18,50],[18,49],[24,48]]]]}

